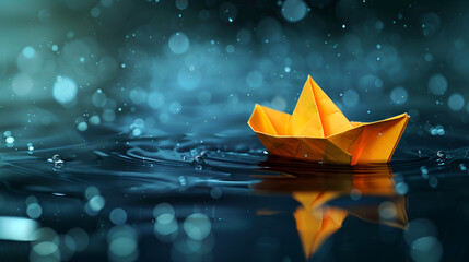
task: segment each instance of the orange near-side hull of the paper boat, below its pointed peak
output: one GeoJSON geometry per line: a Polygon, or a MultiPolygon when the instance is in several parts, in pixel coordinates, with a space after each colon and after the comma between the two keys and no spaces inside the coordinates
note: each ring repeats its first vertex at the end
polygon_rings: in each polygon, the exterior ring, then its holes
{"type": "Polygon", "coordinates": [[[272,155],[326,164],[388,163],[409,121],[407,114],[355,127],[328,138],[271,135],[256,131],[272,155]]]}

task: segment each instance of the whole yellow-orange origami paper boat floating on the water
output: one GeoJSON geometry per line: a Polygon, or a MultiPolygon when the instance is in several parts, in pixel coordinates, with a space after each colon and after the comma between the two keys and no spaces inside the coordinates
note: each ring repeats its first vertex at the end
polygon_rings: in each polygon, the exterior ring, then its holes
{"type": "Polygon", "coordinates": [[[409,116],[351,122],[308,76],[292,115],[256,104],[248,124],[273,155],[326,164],[389,163],[409,116]]]}

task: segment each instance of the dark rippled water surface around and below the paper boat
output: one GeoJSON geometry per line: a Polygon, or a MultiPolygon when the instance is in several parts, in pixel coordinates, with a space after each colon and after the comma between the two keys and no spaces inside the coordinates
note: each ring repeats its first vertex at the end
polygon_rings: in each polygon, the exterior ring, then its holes
{"type": "Polygon", "coordinates": [[[0,261],[469,258],[462,135],[450,151],[410,129],[390,166],[351,168],[269,156],[255,135],[89,133],[2,147],[0,261]]]}

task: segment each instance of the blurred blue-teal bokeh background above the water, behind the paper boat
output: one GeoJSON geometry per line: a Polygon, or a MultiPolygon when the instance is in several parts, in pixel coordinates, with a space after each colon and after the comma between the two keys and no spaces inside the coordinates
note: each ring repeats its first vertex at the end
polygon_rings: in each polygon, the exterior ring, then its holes
{"type": "Polygon", "coordinates": [[[2,132],[247,134],[255,103],[291,112],[310,74],[351,120],[407,111],[421,135],[445,135],[468,122],[467,9],[467,1],[0,1],[2,132]]]}

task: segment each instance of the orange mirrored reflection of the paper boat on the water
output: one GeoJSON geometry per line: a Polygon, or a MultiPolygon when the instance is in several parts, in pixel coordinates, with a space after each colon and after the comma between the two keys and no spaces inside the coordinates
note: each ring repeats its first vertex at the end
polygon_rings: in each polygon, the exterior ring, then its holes
{"type": "Polygon", "coordinates": [[[277,176],[261,176],[258,192],[283,192],[300,205],[293,216],[306,259],[341,228],[351,214],[364,221],[406,228],[406,198],[395,190],[388,165],[341,167],[269,160],[277,176]],[[338,201],[341,200],[341,201],[338,201]]]}

